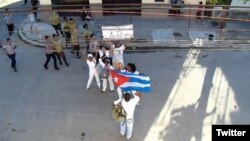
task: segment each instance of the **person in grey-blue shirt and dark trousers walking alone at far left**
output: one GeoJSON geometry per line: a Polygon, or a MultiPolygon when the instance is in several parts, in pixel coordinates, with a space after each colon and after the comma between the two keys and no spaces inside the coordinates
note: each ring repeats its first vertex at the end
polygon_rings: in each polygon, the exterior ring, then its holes
{"type": "Polygon", "coordinates": [[[6,53],[6,55],[11,60],[11,67],[15,72],[17,72],[16,69],[16,44],[10,39],[6,39],[6,43],[3,44],[3,50],[6,53]]]}

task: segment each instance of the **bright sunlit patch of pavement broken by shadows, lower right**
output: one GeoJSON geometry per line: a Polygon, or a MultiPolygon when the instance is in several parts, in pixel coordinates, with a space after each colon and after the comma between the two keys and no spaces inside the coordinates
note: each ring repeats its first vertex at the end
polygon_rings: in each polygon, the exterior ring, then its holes
{"type": "Polygon", "coordinates": [[[207,67],[197,64],[199,50],[190,50],[183,70],[145,141],[211,141],[212,124],[230,124],[230,113],[237,111],[234,91],[221,68],[210,72],[211,87],[202,94],[207,67]],[[229,106],[230,105],[230,106],[229,106]],[[232,106],[234,105],[234,106],[232,106]],[[185,126],[184,126],[185,125],[185,126]],[[202,127],[202,128],[201,128],[202,127]]]}

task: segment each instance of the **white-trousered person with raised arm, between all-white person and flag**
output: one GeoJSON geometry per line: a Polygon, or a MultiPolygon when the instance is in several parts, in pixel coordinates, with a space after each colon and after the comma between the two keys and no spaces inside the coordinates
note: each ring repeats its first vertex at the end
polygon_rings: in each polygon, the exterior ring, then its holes
{"type": "Polygon", "coordinates": [[[109,69],[114,70],[114,67],[110,65],[109,58],[106,58],[105,56],[99,59],[99,63],[102,66],[102,71],[103,71],[103,73],[101,72],[102,92],[104,93],[106,91],[107,85],[108,85],[107,82],[109,82],[110,92],[113,92],[115,89],[114,82],[113,82],[112,76],[109,75],[109,69]]]}

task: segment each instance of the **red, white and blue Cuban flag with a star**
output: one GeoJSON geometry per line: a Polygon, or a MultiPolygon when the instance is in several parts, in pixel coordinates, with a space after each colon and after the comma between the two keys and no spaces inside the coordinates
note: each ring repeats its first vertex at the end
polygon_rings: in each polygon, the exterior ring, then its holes
{"type": "Polygon", "coordinates": [[[150,78],[147,75],[116,72],[110,70],[114,85],[123,91],[150,92],[150,78]]]}

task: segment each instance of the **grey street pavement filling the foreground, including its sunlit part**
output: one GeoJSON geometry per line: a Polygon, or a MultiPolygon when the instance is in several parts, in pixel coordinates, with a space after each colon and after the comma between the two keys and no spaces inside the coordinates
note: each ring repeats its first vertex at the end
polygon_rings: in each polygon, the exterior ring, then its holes
{"type": "MultiPolygon", "coordinates": [[[[123,141],[111,117],[117,94],[86,91],[85,62],[65,51],[70,67],[43,68],[44,51],[17,49],[17,68],[0,55],[1,141],[123,141]]],[[[149,74],[152,92],[136,107],[131,141],[211,140],[212,124],[248,124],[247,50],[125,53],[149,74]]]]}

